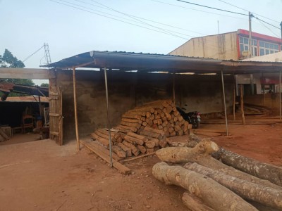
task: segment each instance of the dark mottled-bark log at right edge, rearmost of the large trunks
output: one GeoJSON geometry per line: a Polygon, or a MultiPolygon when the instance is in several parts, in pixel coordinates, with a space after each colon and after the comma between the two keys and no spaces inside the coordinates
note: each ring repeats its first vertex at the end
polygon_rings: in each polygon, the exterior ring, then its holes
{"type": "Polygon", "coordinates": [[[252,158],[246,158],[231,151],[221,148],[215,153],[217,159],[226,165],[235,167],[238,170],[252,174],[255,177],[266,179],[278,186],[282,186],[282,168],[259,162],[252,158]]]}

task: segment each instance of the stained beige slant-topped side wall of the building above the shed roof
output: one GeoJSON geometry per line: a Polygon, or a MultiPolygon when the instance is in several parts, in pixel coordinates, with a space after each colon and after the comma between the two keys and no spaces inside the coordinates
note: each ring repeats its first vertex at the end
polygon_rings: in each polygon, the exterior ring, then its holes
{"type": "Polygon", "coordinates": [[[171,55],[238,60],[237,33],[196,37],[171,51],[171,55]]]}

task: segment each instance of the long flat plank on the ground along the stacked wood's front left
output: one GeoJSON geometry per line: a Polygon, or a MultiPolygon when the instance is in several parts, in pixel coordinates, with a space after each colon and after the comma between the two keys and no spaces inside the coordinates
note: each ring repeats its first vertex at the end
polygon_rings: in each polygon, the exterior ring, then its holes
{"type": "MultiPolygon", "coordinates": [[[[99,150],[98,148],[94,147],[93,145],[90,146],[90,144],[87,144],[85,141],[81,141],[80,143],[82,143],[85,147],[87,147],[88,149],[90,149],[90,151],[94,152],[96,155],[98,155],[100,158],[102,158],[103,160],[105,160],[106,162],[110,163],[110,156],[106,155],[105,153],[103,153],[101,150],[99,150]]],[[[131,170],[126,167],[125,165],[122,165],[120,162],[112,159],[113,161],[113,166],[119,170],[120,172],[122,172],[123,174],[130,174],[131,170]]]]}

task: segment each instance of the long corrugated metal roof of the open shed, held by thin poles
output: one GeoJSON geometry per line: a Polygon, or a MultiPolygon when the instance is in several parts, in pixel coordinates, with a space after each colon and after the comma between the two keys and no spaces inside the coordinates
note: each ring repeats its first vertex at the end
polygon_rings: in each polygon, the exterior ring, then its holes
{"type": "Polygon", "coordinates": [[[240,62],[216,60],[212,58],[194,58],[152,53],[128,53],[123,51],[90,51],[65,58],[44,67],[53,68],[109,68],[123,71],[140,72],[176,71],[176,72],[234,72],[235,74],[257,71],[281,70],[281,63],[240,62]]]}

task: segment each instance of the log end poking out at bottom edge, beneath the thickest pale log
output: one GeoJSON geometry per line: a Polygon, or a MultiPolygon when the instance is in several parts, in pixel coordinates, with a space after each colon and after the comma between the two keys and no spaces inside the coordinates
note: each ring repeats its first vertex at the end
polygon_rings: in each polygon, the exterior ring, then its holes
{"type": "Polygon", "coordinates": [[[192,211],[214,211],[211,207],[205,205],[200,198],[185,192],[182,196],[183,203],[189,210],[192,211]]]}

